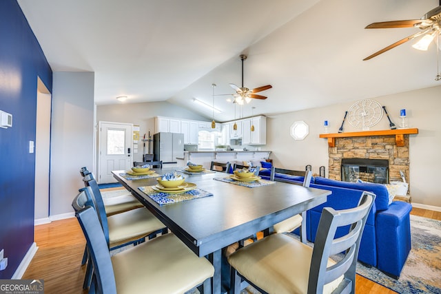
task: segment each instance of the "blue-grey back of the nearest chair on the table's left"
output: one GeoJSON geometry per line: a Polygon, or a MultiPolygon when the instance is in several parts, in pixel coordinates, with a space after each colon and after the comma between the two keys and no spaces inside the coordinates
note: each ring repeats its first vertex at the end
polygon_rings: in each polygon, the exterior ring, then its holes
{"type": "Polygon", "coordinates": [[[94,285],[91,288],[94,287],[96,293],[116,294],[116,282],[109,249],[94,209],[90,206],[84,207],[76,211],[75,216],[83,230],[93,264],[92,282],[94,285]]]}

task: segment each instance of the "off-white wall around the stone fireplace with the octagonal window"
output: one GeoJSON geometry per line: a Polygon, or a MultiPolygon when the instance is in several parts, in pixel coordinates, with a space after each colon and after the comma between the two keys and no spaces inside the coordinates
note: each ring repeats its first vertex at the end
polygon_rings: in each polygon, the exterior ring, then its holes
{"type": "MultiPolygon", "coordinates": [[[[407,109],[409,127],[419,129],[419,134],[409,136],[410,186],[412,202],[441,207],[441,189],[438,172],[441,167],[441,127],[438,125],[441,111],[441,86],[422,90],[392,94],[372,98],[386,106],[393,123],[400,121],[400,109],[407,109]]],[[[295,99],[293,98],[293,101],[295,99]]],[[[323,132],[323,121],[329,120],[330,132],[338,132],[345,111],[355,101],[331,105],[299,112],[271,116],[267,119],[267,149],[276,167],[305,169],[312,165],[314,173],[324,165],[328,170],[327,139],[318,138],[323,132]],[[309,125],[309,135],[305,140],[294,140],[289,128],[297,120],[309,125]]],[[[295,102],[294,102],[295,103],[295,102]]],[[[384,115],[380,123],[371,130],[389,129],[389,121],[384,115]]],[[[345,123],[344,132],[357,132],[345,123]]]]}

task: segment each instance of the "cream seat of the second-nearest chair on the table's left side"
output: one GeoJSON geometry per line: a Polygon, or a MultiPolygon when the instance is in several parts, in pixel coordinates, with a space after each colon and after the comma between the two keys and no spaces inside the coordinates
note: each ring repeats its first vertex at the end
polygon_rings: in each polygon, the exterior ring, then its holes
{"type": "Polygon", "coordinates": [[[150,211],[145,208],[132,209],[107,218],[110,248],[138,240],[154,231],[165,228],[150,211]]]}

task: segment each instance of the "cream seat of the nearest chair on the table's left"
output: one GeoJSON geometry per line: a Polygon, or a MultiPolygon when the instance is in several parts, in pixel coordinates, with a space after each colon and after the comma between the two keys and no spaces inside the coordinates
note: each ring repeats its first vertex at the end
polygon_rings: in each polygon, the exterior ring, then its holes
{"type": "Polygon", "coordinates": [[[198,258],[172,233],[112,256],[116,291],[184,293],[214,275],[206,258],[198,258]]]}

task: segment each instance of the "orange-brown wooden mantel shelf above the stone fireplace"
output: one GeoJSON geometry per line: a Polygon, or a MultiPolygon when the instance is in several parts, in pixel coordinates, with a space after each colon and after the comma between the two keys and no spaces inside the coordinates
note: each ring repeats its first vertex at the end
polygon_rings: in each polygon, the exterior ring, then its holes
{"type": "Polygon", "coordinates": [[[336,138],[369,137],[369,136],[393,136],[397,146],[404,146],[404,135],[418,134],[418,129],[386,129],[383,131],[362,131],[349,133],[320,134],[320,138],[327,138],[329,147],[336,147],[336,138]]]}

